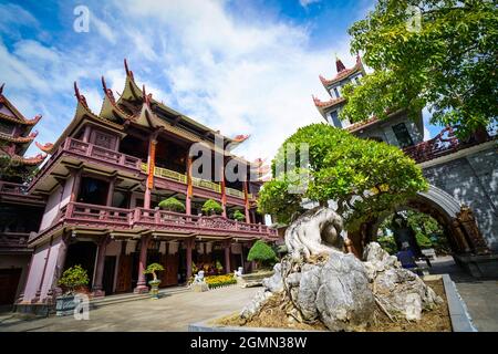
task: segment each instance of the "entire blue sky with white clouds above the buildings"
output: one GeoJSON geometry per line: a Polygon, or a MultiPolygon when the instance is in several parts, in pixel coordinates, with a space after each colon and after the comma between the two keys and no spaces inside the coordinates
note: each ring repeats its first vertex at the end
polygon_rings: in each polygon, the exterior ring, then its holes
{"type": "Polygon", "coordinates": [[[156,100],[225,135],[250,134],[237,153],[271,158],[297,127],[322,121],[318,76],[334,74],[335,54],[353,64],[346,31],[373,2],[0,1],[0,82],[27,116],[43,115],[38,140],[54,142],[74,114],[73,81],[98,112],[101,75],[117,96],[126,58],[156,100]],[[77,6],[89,32],[74,30],[77,6]]]}

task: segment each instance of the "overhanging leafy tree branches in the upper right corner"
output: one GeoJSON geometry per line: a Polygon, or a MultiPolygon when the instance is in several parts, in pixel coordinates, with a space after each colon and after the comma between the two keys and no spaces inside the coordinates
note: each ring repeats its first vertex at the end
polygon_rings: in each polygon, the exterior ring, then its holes
{"type": "Polygon", "coordinates": [[[428,106],[432,123],[457,126],[467,137],[498,123],[498,10],[483,0],[378,0],[349,33],[374,73],[344,87],[342,118],[359,122],[428,106]],[[421,11],[421,30],[408,30],[421,11]]]}

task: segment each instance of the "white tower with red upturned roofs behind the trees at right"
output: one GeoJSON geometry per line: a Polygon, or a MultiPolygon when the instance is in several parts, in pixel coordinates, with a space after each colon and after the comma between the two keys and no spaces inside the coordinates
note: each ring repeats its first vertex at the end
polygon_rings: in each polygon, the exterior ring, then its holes
{"type": "Polygon", "coordinates": [[[340,119],[340,112],[346,101],[342,95],[343,87],[349,84],[359,84],[360,79],[364,76],[362,59],[356,56],[356,63],[353,67],[346,69],[343,62],[335,59],[336,74],[333,79],[325,79],[320,75],[320,81],[330,95],[329,101],[320,101],[313,95],[313,102],[323,118],[331,125],[347,129],[359,137],[371,138],[378,142],[385,142],[391,145],[405,148],[416,145],[424,140],[424,123],[422,112],[416,121],[407,117],[403,110],[393,112],[387,119],[377,119],[370,117],[366,121],[352,124],[347,119],[340,119]]]}

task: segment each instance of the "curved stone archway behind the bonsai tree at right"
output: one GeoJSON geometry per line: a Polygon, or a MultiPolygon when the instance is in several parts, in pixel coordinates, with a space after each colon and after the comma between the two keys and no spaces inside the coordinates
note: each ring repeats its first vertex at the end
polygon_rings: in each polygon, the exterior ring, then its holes
{"type": "MultiPolygon", "coordinates": [[[[429,185],[427,191],[418,192],[416,197],[407,200],[398,209],[414,209],[436,219],[444,228],[455,254],[489,253],[470,208],[461,206],[449,194],[433,185],[429,185]]],[[[359,231],[349,232],[351,251],[361,257],[364,246],[376,239],[380,225],[392,212],[392,210],[386,210],[376,218],[364,222],[359,231]]]]}

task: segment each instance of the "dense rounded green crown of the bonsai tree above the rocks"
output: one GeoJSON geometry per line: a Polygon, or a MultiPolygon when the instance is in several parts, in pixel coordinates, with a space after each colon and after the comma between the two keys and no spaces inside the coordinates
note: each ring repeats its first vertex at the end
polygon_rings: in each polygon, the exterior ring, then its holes
{"type": "Polygon", "coordinates": [[[261,189],[258,209],[283,223],[300,210],[302,198],[321,204],[336,200],[347,229],[353,230],[428,186],[421,168],[397,147],[361,139],[328,124],[299,128],[280,147],[272,169],[274,178],[261,189]],[[287,171],[279,174],[277,167],[284,166],[288,148],[302,143],[309,146],[309,164],[299,166],[298,154],[298,163],[287,162],[287,171]],[[307,174],[305,188],[291,192],[302,183],[298,177],[307,174]]]}

